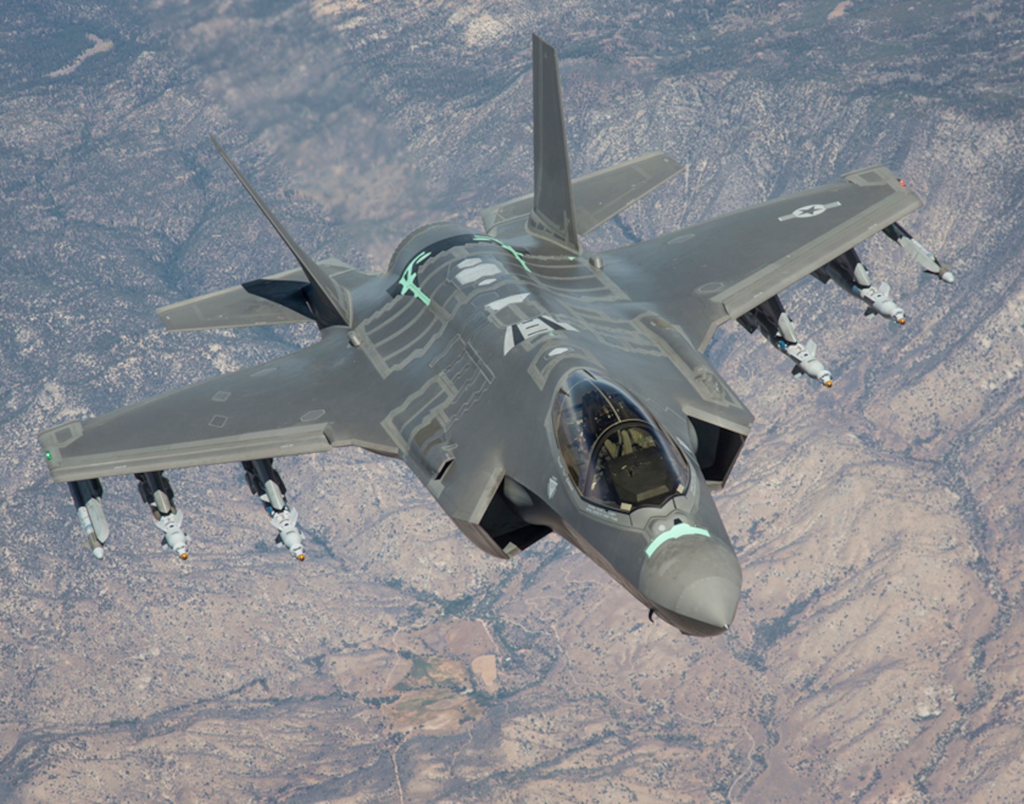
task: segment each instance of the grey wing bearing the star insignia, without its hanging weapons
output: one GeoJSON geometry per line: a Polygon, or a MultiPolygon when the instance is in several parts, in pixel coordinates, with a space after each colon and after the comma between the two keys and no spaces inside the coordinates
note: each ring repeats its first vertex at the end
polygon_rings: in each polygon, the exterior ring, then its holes
{"type": "Polygon", "coordinates": [[[605,270],[703,351],[719,325],[922,206],[887,168],[843,178],[605,252],[605,270]]]}

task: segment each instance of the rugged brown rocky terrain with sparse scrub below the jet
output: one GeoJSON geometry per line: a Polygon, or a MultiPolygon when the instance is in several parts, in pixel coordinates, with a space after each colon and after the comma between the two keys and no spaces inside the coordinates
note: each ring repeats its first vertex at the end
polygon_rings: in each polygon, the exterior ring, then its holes
{"type": "MultiPolygon", "coordinates": [[[[0,799],[1018,802],[1024,788],[1024,10],[1011,0],[0,4],[0,799]],[[612,248],[882,163],[951,264],[860,250],[907,311],[783,299],[825,390],[735,325],[757,416],[720,509],[727,637],[647,622],[549,537],[477,551],[406,467],[279,461],[309,557],[237,466],[129,479],[82,545],[36,434],[280,356],[308,327],[172,334],[154,308],[292,267],[214,132],[315,257],[531,186],[529,34],[573,171],[685,170],[612,248]]],[[[282,389],[282,393],[296,393],[282,389]]],[[[159,426],[159,422],[155,422],[159,426]]]]}

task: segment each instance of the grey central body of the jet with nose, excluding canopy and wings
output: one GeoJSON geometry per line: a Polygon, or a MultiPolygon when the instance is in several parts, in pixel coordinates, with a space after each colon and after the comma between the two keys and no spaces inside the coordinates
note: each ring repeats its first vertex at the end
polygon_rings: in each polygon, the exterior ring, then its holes
{"type": "MultiPolygon", "coordinates": [[[[407,238],[386,274],[358,278],[352,303],[347,348],[408,398],[385,430],[477,546],[508,557],[554,531],[680,630],[728,626],[740,571],[684,412],[708,384],[695,387],[677,364],[713,371],[692,346],[667,349],[668,332],[650,331],[654,316],[585,259],[530,254],[452,224],[407,238]],[[426,378],[404,370],[423,364],[426,378]],[[685,462],[685,488],[657,504],[580,493],[556,444],[553,402],[581,371],[639,402],[685,462]]],[[[734,399],[714,376],[715,392],[734,399]]]]}

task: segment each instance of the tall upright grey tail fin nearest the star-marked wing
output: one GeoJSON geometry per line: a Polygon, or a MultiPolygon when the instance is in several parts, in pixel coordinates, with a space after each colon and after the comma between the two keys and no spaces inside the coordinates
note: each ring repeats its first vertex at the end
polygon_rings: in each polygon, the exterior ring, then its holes
{"type": "Polygon", "coordinates": [[[534,211],[526,230],[580,251],[555,49],[534,34],[534,211]]]}

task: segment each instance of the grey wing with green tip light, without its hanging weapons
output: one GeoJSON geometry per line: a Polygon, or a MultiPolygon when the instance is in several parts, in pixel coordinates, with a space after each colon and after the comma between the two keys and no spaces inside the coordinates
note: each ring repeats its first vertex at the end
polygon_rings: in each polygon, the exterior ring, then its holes
{"type": "Polygon", "coordinates": [[[53,480],[85,480],[359,446],[397,454],[387,389],[344,332],[262,365],[40,434],[53,480]]]}

